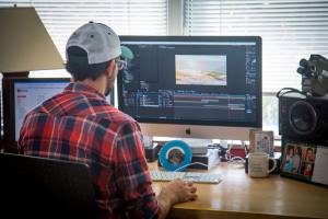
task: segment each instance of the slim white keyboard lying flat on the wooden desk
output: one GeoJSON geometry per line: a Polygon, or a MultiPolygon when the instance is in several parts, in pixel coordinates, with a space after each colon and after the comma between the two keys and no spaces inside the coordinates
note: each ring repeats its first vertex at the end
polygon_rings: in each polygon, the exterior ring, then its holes
{"type": "Polygon", "coordinates": [[[150,175],[152,181],[173,181],[174,178],[181,178],[183,181],[191,181],[194,183],[211,184],[218,184],[222,181],[222,176],[215,173],[150,171],[150,175]]]}

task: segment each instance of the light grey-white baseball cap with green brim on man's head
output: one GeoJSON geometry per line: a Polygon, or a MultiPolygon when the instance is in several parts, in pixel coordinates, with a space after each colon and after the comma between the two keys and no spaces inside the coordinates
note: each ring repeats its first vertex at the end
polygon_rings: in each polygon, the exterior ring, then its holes
{"type": "Polygon", "coordinates": [[[86,51],[89,65],[105,62],[119,56],[128,59],[133,58],[133,53],[128,47],[120,46],[117,34],[109,26],[102,23],[89,22],[69,37],[66,45],[68,61],[68,49],[72,46],[86,51]]]}

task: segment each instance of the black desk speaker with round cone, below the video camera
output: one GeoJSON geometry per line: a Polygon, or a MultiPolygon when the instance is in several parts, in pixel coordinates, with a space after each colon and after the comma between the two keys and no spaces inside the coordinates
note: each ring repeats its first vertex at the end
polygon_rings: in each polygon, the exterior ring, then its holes
{"type": "Polygon", "coordinates": [[[279,134],[313,143],[328,141],[328,97],[290,93],[279,97],[279,134]]]}

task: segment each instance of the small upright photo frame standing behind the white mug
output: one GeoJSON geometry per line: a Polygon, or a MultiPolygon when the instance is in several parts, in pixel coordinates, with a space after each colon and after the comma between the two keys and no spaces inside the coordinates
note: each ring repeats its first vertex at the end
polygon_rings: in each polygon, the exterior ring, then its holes
{"type": "Polygon", "coordinates": [[[249,152],[265,152],[273,157],[273,131],[256,130],[249,131],[249,152]]]}

